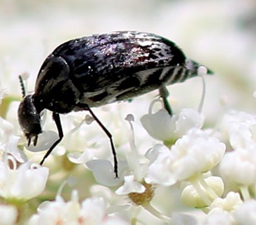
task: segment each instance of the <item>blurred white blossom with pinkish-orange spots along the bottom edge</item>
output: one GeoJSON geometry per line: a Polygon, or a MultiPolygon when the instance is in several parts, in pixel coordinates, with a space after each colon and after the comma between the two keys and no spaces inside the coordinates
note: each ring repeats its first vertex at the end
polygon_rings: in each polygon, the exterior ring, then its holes
{"type": "Polygon", "coordinates": [[[72,198],[68,202],[65,202],[62,198],[58,198],[52,202],[42,203],[38,213],[30,218],[28,224],[105,225],[112,221],[113,225],[127,225],[126,221],[123,221],[117,216],[108,216],[106,209],[107,205],[103,198],[87,198],[80,204],[78,202],[77,191],[73,191],[72,198]]]}

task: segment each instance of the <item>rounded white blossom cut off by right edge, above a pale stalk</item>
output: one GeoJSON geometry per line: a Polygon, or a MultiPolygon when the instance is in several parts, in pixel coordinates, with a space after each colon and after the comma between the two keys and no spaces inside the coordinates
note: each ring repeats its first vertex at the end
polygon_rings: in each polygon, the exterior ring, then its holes
{"type": "Polygon", "coordinates": [[[220,175],[226,182],[250,185],[256,182],[256,154],[253,150],[239,149],[224,155],[219,164],[220,175]]]}

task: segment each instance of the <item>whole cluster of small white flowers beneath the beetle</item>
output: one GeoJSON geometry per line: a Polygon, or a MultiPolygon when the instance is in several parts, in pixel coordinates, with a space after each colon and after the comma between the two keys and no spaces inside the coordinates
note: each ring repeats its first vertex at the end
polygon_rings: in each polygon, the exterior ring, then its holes
{"type": "Polygon", "coordinates": [[[0,224],[255,224],[256,116],[226,111],[206,129],[202,105],[169,116],[153,111],[158,103],[141,116],[144,136],[134,115],[118,118],[118,178],[108,140],[98,144],[94,131],[79,132],[94,121],[89,116],[63,120],[68,131],[46,166],[32,161],[58,138],[48,120],[37,145],[28,147],[17,124],[0,117],[0,224]],[[82,136],[89,141],[79,144],[82,136]],[[149,138],[154,144],[145,149],[149,138]],[[70,175],[77,181],[67,182],[70,175]]]}

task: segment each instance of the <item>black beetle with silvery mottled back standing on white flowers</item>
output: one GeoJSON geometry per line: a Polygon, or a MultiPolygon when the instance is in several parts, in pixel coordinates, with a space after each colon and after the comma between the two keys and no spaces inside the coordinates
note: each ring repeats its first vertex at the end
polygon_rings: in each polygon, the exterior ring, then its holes
{"type": "Polygon", "coordinates": [[[47,151],[42,165],[63,138],[59,114],[87,110],[110,139],[117,177],[112,135],[91,108],[158,89],[165,109],[172,115],[165,87],[197,76],[198,67],[175,43],[146,32],[110,32],[67,41],[46,57],[39,69],[34,94],[23,96],[20,102],[18,121],[27,145],[31,141],[36,145],[42,132],[41,111],[52,111],[59,138],[47,151]]]}

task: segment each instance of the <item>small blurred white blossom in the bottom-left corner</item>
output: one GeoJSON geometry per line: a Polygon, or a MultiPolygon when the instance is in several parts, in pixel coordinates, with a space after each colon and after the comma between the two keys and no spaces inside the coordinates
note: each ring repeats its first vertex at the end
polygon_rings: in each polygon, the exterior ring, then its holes
{"type": "Polygon", "coordinates": [[[0,225],[15,225],[18,217],[17,209],[12,205],[0,205],[0,225]]]}

